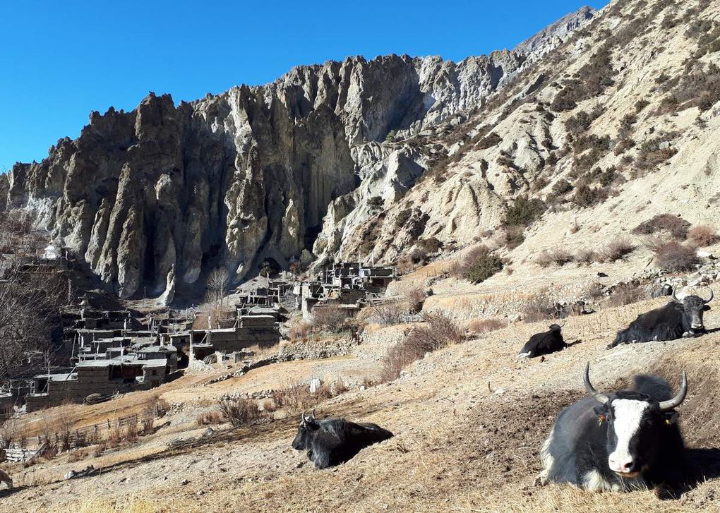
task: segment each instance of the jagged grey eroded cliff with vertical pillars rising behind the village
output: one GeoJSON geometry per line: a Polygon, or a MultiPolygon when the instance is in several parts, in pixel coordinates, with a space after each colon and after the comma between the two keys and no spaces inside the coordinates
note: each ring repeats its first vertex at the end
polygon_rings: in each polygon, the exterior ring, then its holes
{"type": "Polygon", "coordinates": [[[543,44],[460,63],[356,57],[192,103],[150,93],[132,112],[91,113],[42,162],[14,165],[8,206],[32,212],[123,298],[171,301],[212,268],[239,281],[313,246],[334,258],[348,230],[400,200],[436,158],[416,137],[463,122],[590,17],[543,44]]]}

